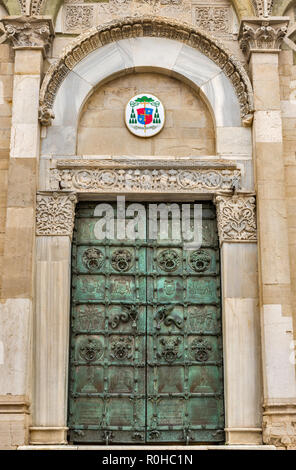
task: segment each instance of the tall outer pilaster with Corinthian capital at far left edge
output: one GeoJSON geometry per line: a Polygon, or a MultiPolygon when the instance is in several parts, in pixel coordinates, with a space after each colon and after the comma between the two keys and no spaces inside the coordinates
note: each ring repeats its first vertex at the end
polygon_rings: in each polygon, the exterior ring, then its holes
{"type": "Polygon", "coordinates": [[[4,263],[0,303],[0,445],[28,443],[32,398],[35,198],[39,89],[49,19],[2,20],[15,49],[4,263]]]}

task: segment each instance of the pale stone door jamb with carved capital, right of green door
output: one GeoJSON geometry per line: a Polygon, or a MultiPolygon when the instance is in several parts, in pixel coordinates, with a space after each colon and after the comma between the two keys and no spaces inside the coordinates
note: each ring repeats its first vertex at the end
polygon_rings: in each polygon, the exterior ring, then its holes
{"type": "Polygon", "coordinates": [[[215,199],[221,245],[226,444],[262,444],[256,206],[253,194],[215,199]]]}

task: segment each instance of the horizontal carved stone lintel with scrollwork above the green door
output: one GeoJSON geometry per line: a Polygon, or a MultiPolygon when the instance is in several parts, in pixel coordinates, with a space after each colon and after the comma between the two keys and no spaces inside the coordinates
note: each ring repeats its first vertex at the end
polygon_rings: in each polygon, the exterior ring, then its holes
{"type": "Polygon", "coordinates": [[[240,187],[241,171],[234,164],[194,160],[68,160],[50,170],[52,190],[78,193],[207,193],[240,187]]]}

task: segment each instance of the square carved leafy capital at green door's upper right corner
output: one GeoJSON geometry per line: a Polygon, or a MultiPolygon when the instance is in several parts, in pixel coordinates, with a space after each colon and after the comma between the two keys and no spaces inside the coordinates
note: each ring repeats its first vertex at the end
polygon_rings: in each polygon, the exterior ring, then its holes
{"type": "Polygon", "coordinates": [[[250,194],[216,196],[220,243],[256,242],[256,200],[250,194]]]}

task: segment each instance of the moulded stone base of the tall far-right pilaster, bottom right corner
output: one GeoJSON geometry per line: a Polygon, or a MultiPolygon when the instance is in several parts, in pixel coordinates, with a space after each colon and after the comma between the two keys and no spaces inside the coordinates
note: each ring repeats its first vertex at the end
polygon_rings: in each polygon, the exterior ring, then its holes
{"type": "Polygon", "coordinates": [[[263,442],[280,449],[296,449],[296,404],[264,406],[263,442]]]}

